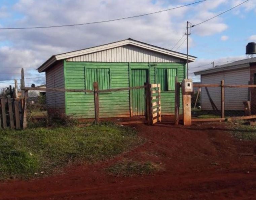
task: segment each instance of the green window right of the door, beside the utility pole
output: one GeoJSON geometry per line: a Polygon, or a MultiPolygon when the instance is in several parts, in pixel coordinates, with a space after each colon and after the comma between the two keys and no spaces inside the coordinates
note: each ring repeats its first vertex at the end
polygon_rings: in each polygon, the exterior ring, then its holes
{"type": "Polygon", "coordinates": [[[156,69],[156,83],[161,84],[162,91],[175,91],[177,69],[156,69]]]}

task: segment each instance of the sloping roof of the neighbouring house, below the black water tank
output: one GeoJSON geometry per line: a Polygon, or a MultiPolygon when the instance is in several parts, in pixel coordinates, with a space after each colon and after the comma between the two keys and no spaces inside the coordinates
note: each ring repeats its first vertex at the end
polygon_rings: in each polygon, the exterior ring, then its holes
{"type": "Polygon", "coordinates": [[[235,62],[230,62],[230,63],[219,65],[216,67],[196,71],[196,72],[194,72],[194,74],[197,76],[200,74],[209,74],[209,73],[215,73],[215,72],[219,72],[219,71],[245,68],[245,67],[250,67],[250,63],[254,63],[254,62],[256,62],[256,58],[238,60],[235,62]]]}

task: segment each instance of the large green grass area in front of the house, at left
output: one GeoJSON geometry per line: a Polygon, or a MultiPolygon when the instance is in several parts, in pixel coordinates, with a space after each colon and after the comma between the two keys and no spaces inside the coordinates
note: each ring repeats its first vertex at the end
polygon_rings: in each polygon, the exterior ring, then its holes
{"type": "Polygon", "coordinates": [[[1,130],[0,180],[49,174],[72,161],[107,159],[142,142],[133,129],[112,124],[1,130]]]}

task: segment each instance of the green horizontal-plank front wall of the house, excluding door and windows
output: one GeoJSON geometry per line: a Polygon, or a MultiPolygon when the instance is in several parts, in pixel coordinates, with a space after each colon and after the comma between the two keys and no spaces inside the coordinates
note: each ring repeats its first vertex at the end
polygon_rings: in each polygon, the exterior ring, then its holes
{"type": "MultiPolygon", "coordinates": [[[[64,76],[66,89],[85,89],[86,69],[101,68],[110,70],[110,88],[131,87],[132,69],[148,69],[150,83],[155,83],[156,69],[177,69],[178,80],[184,79],[185,67],[181,63],[110,63],[110,62],[67,62],[64,61],[64,76]]],[[[174,91],[161,92],[162,114],[174,114],[174,91]]],[[[182,101],[181,101],[182,102],[182,101]]],[[[132,98],[131,98],[132,103],[132,98]]],[[[129,117],[129,91],[100,93],[100,117],[129,117]]],[[[131,105],[132,106],[132,105],[131,105]]],[[[65,92],[66,114],[75,118],[94,118],[93,93],[65,92]]]]}

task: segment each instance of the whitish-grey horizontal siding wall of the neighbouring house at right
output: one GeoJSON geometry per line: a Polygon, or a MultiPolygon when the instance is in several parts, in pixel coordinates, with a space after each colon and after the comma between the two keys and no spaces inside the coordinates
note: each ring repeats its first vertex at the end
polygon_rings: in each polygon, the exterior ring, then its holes
{"type": "MultiPolygon", "coordinates": [[[[250,68],[223,71],[215,74],[201,75],[202,84],[247,85],[250,81],[250,68]]],[[[211,98],[221,109],[220,87],[208,88],[211,98]]],[[[248,88],[225,88],[225,110],[244,110],[243,101],[248,100],[248,88]]],[[[201,105],[203,110],[212,110],[205,88],[202,88],[201,105]]]]}

